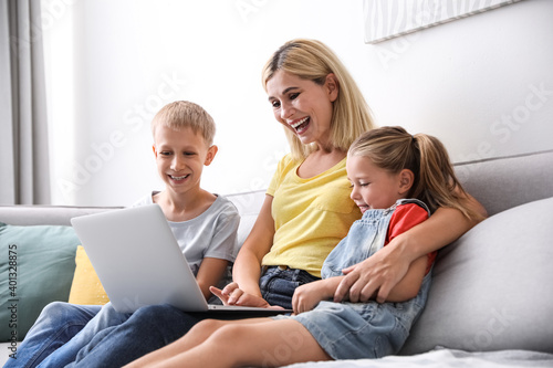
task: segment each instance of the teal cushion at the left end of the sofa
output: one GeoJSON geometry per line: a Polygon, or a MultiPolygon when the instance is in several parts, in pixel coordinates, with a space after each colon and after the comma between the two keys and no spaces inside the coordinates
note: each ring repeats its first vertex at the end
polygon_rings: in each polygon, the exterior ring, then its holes
{"type": "Polygon", "coordinates": [[[48,303],[67,301],[79,243],[71,227],[0,222],[0,341],[23,339],[48,303]]]}

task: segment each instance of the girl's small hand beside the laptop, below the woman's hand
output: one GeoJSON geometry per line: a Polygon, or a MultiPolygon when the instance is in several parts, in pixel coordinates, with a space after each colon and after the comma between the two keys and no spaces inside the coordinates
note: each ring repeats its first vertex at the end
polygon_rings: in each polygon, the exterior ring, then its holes
{"type": "Polygon", "coordinates": [[[313,309],[319,302],[327,301],[334,295],[340,277],[319,280],[299,286],[292,296],[294,314],[313,309]]]}

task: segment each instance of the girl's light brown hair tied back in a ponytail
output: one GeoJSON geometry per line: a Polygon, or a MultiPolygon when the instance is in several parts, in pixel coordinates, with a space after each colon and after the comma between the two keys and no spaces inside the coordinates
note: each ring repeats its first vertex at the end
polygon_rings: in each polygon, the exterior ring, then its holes
{"type": "Polygon", "coordinates": [[[355,140],[348,155],[367,157],[392,174],[413,171],[415,179],[407,197],[427,203],[432,212],[449,207],[469,220],[482,219],[468,206],[469,196],[455,175],[446,147],[436,137],[411,136],[401,127],[376,128],[355,140]]]}

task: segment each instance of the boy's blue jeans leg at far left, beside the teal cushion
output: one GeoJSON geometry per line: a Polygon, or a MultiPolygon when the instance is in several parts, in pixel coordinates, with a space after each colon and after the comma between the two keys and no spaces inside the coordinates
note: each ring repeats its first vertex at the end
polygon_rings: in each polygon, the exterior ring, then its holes
{"type": "Polygon", "coordinates": [[[54,302],[44,307],[33,327],[4,368],[36,367],[54,350],[71,340],[101,309],[100,305],[54,302]]]}

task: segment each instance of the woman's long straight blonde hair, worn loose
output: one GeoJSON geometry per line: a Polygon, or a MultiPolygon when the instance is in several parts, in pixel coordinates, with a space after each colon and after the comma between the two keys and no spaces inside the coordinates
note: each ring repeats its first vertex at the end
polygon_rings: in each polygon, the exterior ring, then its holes
{"type": "MultiPolygon", "coordinates": [[[[355,138],[373,128],[371,109],[361,90],[336,54],[324,43],[304,39],[284,43],[263,67],[262,84],[265,92],[267,83],[278,71],[284,71],[319,85],[325,83],[328,74],[333,73],[336,76],[338,97],[333,103],[331,120],[331,141],[335,148],[347,151],[355,138]]],[[[315,145],[303,145],[293,132],[289,129],[284,132],[295,159],[305,158],[316,150],[315,145]]]]}

